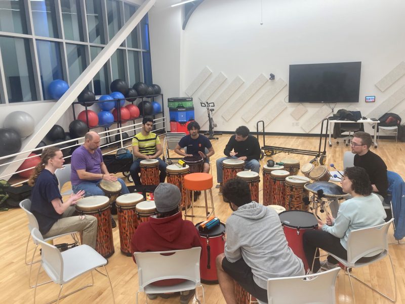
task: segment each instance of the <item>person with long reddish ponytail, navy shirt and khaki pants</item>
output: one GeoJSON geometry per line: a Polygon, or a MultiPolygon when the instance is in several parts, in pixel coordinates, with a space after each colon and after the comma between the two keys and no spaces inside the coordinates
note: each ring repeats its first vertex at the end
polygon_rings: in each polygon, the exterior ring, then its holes
{"type": "Polygon", "coordinates": [[[39,231],[44,238],[82,231],[83,244],[96,248],[97,218],[92,215],[74,216],[76,202],[85,192],[78,191],[63,201],[55,176],[56,169],[63,167],[62,151],[49,147],[41,154],[41,163],[36,165],[28,184],[33,186],[31,212],[38,221],[39,231]]]}

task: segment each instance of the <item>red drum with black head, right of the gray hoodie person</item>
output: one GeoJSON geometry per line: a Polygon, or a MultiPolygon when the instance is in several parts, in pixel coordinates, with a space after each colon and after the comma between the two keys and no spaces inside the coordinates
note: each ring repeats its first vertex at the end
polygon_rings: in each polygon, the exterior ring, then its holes
{"type": "Polygon", "coordinates": [[[302,244],[302,236],[307,230],[314,230],[318,227],[318,221],[311,212],[301,210],[288,210],[279,215],[282,228],[288,245],[296,256],[302,259],[305,271],[311,269],[312,261],[307,261],[302,244]]]}

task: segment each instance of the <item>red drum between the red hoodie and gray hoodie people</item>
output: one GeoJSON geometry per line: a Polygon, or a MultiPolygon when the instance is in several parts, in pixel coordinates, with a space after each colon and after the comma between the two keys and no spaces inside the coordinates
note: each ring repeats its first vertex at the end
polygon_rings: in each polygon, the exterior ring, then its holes
{"type": "MultiPolygon", "coordinates": [[[[195,225],[197,231],[200,223],[195,225]]],[[[215,259],[219,254],[224,252],[225,224],[220,223],[208,232],[198,231],[198,234],[201,245],[203,245],[199,261],[201,282],[218,283],[215,259]]]]}

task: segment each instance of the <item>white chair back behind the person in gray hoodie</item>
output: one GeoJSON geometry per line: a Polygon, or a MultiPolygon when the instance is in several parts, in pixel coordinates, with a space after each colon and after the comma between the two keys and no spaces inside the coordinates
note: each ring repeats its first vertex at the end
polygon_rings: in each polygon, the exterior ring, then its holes
{"type": "Polygon", "coordinates": [[[340,268],[298,277],[267,280],[269,304],[334,304],[335,283],[340,268]]]}

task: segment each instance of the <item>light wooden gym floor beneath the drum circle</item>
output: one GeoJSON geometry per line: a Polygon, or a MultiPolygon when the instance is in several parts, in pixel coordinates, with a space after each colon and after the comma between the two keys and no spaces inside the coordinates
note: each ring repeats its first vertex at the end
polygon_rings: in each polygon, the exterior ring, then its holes
{"type": "MultiPolygon", "coordinates": [[[[219,140],[213,141],[216,154],[211,157],[212,174],[214,182],[216,182],[216,167],[215,160],[223,157],[223,148],[228,141],[230,135],[223,135],[219,140]]],[[[287,136],[268,136],[266,137],[267,145],[292,147],[300,149],[317,150],[319,139],[316,137],[287,137],[287,136]]],[[[334,163],[336,168],[343,168],[343,153],[349,150],[349,147],[340,144],[333,147],[327,147],[327,164],[334,163]]],[[[405,143],[394,143],[392,140],[381,140],[377,149],[373,151],[380,155],[386,162],[388,170],[398,172],[402,177],[405,177],[405,163],[403,162],[403,155],[405,151],[405,143]]],[[[285,158],[285,154],[277,154],[273,156],[275,161],[280,161],[285,158]]],[[[292,154],[288,156],[300,161],[301,166],[312,159],[310,156],[292,154]]],[[[265,164],[269,158],[261,161],[265,164]]],[[[128,183],[130,184],[130,183],[128,183]]],[[[260,200],[262,200],[262,183],[260,183],[260,200]]],[[[218,196],[218,189],[213,188],[214,202],[216,207],[216,215],[224,222],[230,215],[231,211],[228,204],[222,200],[222,196],[218,196]]],[[[115,216],[116,218],[116,216],[115,216]]],[[[34,290],[28,287],[28,274],[29,267],[24,264],[25,244],[28,237],[27,218],[24,212],[20,209],[11,209],[7,212],[0,212],[0,255],[1,259],[1,273],[0,273],[0,286],[1,295],[0,302],[2,303],[29,303],[33,301],[34,290]]],[[[392,237],[392,226],[389,232],[390,241],[394,242],[392,237]]],[[[138,276],[136,264],[132,261],[131,257],[127,257],[120,253],[119,250],[119,235],[118,227],[113,229],[113,238],[115,245],[115,253],[108,259],[107,270],[111,277],[115,302],[116,303],[135,303],[135,293],[138,288],[138,276]]],[[[61,240],[60,243],[63,241],[61,240]]],[[[58,242],[59,243],[59,242],[58,242]]],[[[390,245],[390,253],[393,259],[394,268],[396,271],[396,279],[398,286],[398,300],[397,303],[405,303],[405,246],[390,245]]],[[[29,256],[33,252],[33,244],[29,243],[29,256]]],[[[38,254],[37,254],[37,257],[38,254]]],[[[33,266],[33,273],[36,275],[39,264],[33,266]]],[[[354,274],[366,281],[386,291],[389,295],[393,293],[393,280],[389,265],[389,259],[386,258],[380,262],[373,264],[370,267],[354,270],[354,274]]],[[[35,277],[35,275],[33,277],[35,277]]],[[[46,275],[42,273],[40,276],[42,280],[46,279],[46,275]]],[[[110,289],[105,277],[97,272],[94,272],[95,286],[85,289],[76,293],[62,302],[74,303],[110,303],[112,302],[110,289]]],[[[86,275],[83,278],[76,279],[69,283],[64,288],[64,292],[69,292],[82,284],[91,282],[91,276],[86,275]]],[[[205,285],[206,303],[208,304],[225,304],[218,285],[205,285]]],[[[354,282],[355,295],[357,303],[389,303],[388,300],[380,297],[377,293],[371,292],[369,289],[364,288],[362,285],[354,282]]],[[[51,283],[37,289],[37,303],[45,303],[56,298],[59,287],[51,283]]],[[[316,292],[316,290],[314,291],[316,292]]],[[[145,303],[145,295],[140,294],[141,303],[145,303]]],[[[337,303],[351,303],[351,291],[348,278],[345,277],[343,272],[340,272],[337,286],[336,286],[336,300],[337,303]]],[[[170,299],[157,298],[156,300],[149,300],[149,303],[178,303],[179,297],[170,299]]],[[[191,302],[191,301],[190,301],[191,302]]]]}

